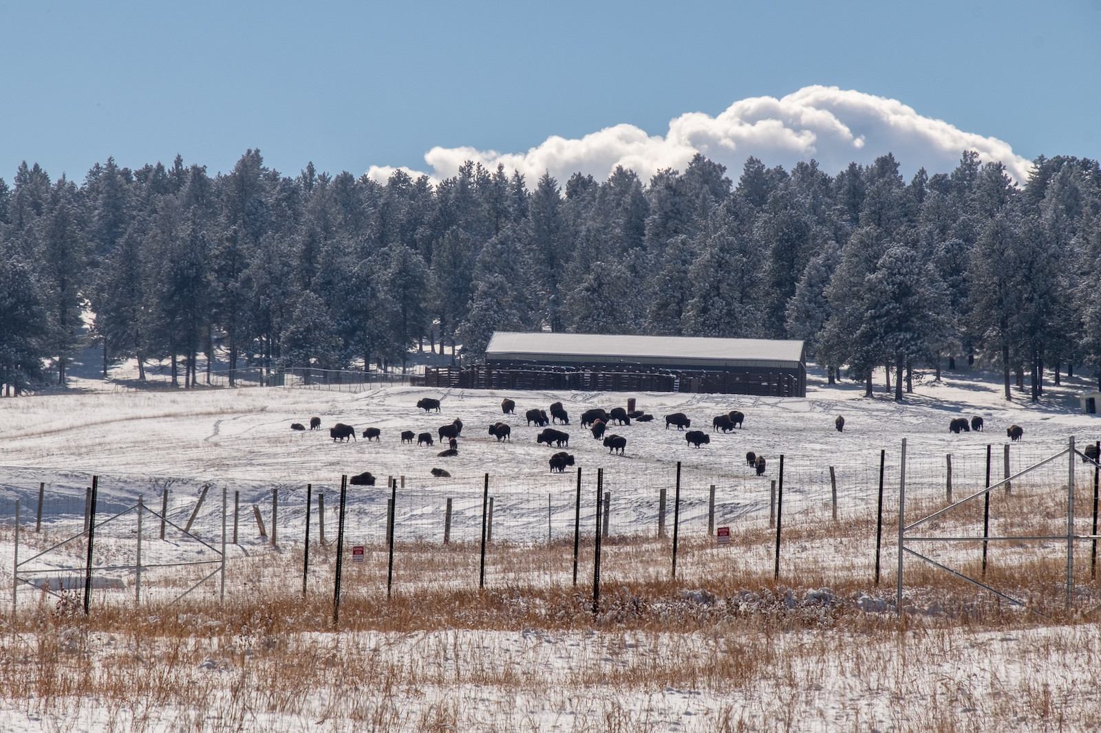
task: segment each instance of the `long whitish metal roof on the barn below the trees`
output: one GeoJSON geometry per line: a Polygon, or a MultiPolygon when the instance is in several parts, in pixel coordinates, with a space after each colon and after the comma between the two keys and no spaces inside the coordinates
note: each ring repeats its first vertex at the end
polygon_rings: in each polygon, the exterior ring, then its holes
{"type": "Polygon", "coordinates": [[[682,336],[516,333],[497,331],[486,358],[500,361],[632,363],[713,369],[797,368],[803,341],[716,339],[682,336]]]}

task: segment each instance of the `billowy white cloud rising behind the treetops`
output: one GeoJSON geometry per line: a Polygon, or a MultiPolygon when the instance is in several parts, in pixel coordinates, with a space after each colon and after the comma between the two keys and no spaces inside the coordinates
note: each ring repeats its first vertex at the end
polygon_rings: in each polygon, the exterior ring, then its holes
{"type": "MultiPolygon", "coordinates": [[[[735,180],[751,155],[765,165],[788,169],[815,158],[824,171],[836,174],[852,161],[866,164],[890,152],[904,173],[922,166],[930,174],[947,173],[964,150],[978,151],[983,161],[1001,161],[1018,180],[1024,180],[1032,166],[1009,143],[923,117],[896,99],[821,86],[804,87],[782,99],[742,99],[717,117],[688,112],[672,120],[664,136],[647,135],[633,124],[617,124],[579,140],[550,136],[526,153],[437,146],[424,160],[427,175],[436,180],[456,175],[462,163],[475,161],[490,168],[503,163],[532,185],[544,171],[564,183],[578,171],[603,179],[617,165],[646,180],[662,168],[684,169],[697,152],[726,165],[735,180]]],[[[372,165],[368,176],[382,183],[394,169],[372,165]]]]}

